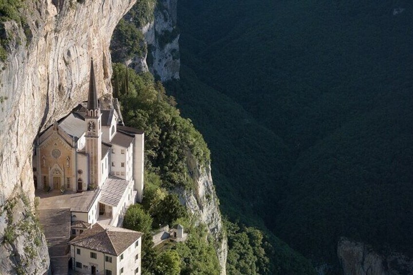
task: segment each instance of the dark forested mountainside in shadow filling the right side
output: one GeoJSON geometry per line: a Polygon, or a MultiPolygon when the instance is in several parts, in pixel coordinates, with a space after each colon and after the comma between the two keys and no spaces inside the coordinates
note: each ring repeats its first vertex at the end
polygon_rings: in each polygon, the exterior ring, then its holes
{"type": "Polygon", "coordinates": [[[413,255],[412,15],[410,1],[178,1],[181,80],[166,87],[230,219],[333,274],[340,236],[413,255]]]}

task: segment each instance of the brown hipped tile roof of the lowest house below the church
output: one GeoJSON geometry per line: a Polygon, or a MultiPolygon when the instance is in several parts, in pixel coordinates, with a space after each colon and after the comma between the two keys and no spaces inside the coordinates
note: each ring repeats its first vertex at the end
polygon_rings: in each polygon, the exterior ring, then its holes
{"type": "Polygon", "coordinates": [[[125,228],[107,225],[104,227],[96,223],[91,229],[71,240],[69,244],[119,256],[143,235],[141,232],[125,228]]]}

